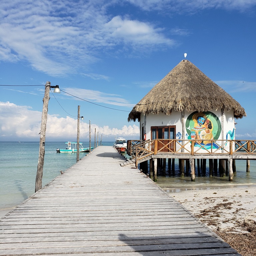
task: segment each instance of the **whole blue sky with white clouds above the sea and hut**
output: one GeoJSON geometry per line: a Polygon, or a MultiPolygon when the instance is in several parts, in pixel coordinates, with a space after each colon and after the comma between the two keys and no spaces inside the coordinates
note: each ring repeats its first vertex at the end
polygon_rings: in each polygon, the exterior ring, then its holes
{"type": "Polygon", "coordinates": [[[255,24],[256,0],[1,0],[0,141],[39,141],[47,81],[61,93],[46,141],[76,141],[78,106],[80,141],[89,120],[92,140],[139,139],[129,112],[184,53],[245,108],[236,139],[255,140],[255,24]]]}

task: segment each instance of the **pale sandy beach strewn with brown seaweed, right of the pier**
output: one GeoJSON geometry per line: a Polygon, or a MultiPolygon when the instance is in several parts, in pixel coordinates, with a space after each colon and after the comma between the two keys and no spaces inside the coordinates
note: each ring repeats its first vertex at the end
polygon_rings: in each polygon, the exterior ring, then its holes
{"type": "Polygon", "coordinates": [[[169,194],[243,256],[256,255],[256,186],[169,194]]]}

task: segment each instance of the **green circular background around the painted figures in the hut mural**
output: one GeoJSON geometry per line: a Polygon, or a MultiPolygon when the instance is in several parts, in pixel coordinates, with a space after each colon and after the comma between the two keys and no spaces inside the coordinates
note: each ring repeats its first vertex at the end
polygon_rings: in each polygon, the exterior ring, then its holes
{"type": "Polygon", "coordinates": [[[206,117],[208,120],[211,121],[212,123],[212,129],[210,129],[212,131],[212,135],[213,135],[213,139],[217,140],[219,139],[220,133],[221,133],[221,124],[220,124],[220,120],[219,118],[212,112],[198,112],[195,111],[193,113],[191,113],[187,120],[186,120],[186,131],[188,134],[188,139],[191,139],[191,129],[193,129],[196,126],[196,117],[197,116],[203,116],[204,118],[206,117]],[[193,118],[194,116],[194,118],[193,118]]]}

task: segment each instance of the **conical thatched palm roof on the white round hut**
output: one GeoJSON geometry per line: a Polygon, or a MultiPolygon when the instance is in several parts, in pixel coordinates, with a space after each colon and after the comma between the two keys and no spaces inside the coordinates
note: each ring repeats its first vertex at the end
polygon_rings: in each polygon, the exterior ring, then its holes
{"type": "Polygon", "coordinates": [[[170,115],[174,111],[234,111],[235,118],[246,116],[244,108],[220,86],[188,60],[182,60],[137,103],[128,121],[140,121],[146,113],[170,115]]]}

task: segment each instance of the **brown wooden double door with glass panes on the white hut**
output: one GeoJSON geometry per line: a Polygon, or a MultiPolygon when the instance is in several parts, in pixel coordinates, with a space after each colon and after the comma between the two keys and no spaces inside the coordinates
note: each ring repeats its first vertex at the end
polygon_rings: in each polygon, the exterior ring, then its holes
{"type": "MultiPolygon", "coordinates": [[[[175,150],[174,142],[168,141],[169,139],[175,139],[176,136],[176,126],[152,126],[151,127],[151,140],[158,139],[158,150],[161,152],[170,152],[175,150]],[[168,139],[168,140],[166,140],[168,139]],[[170,143],[168,146],[164,147],[170,143]]],[[[154,150],[154,145],[152,150],[154,150]]]]}

